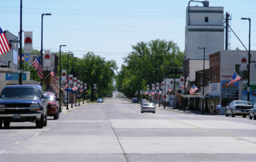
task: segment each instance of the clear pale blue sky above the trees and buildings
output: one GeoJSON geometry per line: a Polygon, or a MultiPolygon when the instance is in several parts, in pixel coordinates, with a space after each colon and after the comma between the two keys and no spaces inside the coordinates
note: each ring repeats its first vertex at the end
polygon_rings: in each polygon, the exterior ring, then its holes
{"type": "MultiPolygon", "coordinates": [[[[120,68],[123,57],[131,51],[131,45],[153,39],[172,40],[184,50],[185,8],[188,0],[23,0],[24,31],[33,31],[33,47],[40,50],[41,14],[44,16],[43,47],[59,51],[73,51],[82,57],[88,51],[114,59],[120,68]]],[[[202,5],[192,2],[191,5],[202,5]]],[[[211,7],[224,7],[232,15],[231,27],[245,45],[248,45],[248,21],[250,17],[251,50],[256,47],[256,1],[210,0],[211,7]]],[[[0,27],[18,35],[20,24],[20,0],[2,1],[0,27]]],[[[231,34],[231,47],[242,45],[231,34]]]]}

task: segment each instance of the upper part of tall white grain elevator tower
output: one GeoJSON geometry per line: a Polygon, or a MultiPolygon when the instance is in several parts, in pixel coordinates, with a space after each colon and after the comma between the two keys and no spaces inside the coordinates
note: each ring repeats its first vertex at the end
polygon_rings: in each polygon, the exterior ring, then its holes
{"type": "Polygon", "coordinates": [[[187,7],[185,56],[187,59],[209,59],[210,53],[224,50],[223,7],[187,7]]]}

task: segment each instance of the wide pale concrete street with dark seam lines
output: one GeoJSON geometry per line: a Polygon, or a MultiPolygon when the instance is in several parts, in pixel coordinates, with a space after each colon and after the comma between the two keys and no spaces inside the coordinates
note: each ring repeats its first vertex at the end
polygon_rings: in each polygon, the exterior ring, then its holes
{"type": "Polygon", "coordinates": [[[0,161],[256,161],[256,121],[156,109],[105,99],[0,129],[0,161]]]}

